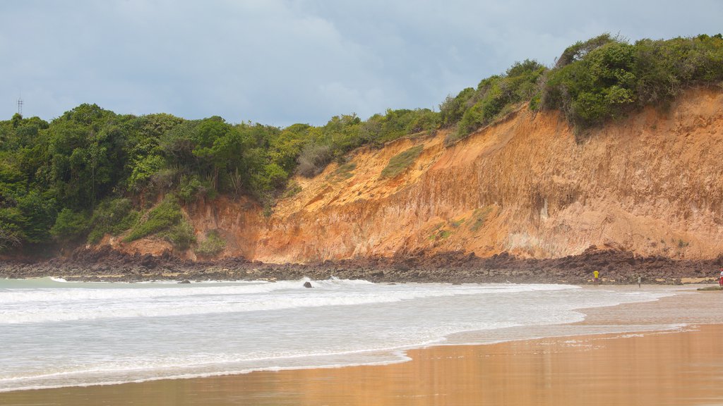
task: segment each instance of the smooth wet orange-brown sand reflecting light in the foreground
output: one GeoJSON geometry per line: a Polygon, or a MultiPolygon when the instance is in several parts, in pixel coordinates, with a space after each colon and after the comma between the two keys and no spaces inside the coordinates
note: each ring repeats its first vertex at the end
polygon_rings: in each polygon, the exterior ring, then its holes
{"type": "Polygon", "coordinates": [[[0,405],[723,405],[723,294],[585,312],[577,327],[689,325],[429,347],[385,366],[7,392],[0,405]]]}

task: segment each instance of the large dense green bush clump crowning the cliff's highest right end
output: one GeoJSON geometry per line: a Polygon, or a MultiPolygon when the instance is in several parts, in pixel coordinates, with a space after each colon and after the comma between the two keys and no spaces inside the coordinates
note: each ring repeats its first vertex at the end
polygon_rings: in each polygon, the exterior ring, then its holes
{"type": "Polygon", "coordinates": [[[691,85],[723,80],[723,38],[639,40],[601,35],[563,53],[542,85],[541,107],[560,109],[576,129],[645,105],[667,106],[691,85]]]}

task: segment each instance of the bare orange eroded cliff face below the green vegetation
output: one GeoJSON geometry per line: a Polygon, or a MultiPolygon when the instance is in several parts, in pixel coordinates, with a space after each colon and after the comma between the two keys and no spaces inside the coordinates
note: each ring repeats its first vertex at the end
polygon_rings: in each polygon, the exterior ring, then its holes
{"type": "MultiPolygon", "coordinates": [[[[222,256],[309,262],[422,249],[538,258],[589,246],[705,259],[723,251],[723,92],[690,90],[576,139],[557,112],[520,108],[445,147],[435,137],[365,148],[330,165],[265,217],[219,199],[188,210],[197,233],[218,229],[222,256]],[[401,175],[391,157],[424,150],[401,175]]],[[[124,247],[148,251],[144,243],[124,247]]],[[[190,258],[193,254],[187,253],[190,258]]]]}

